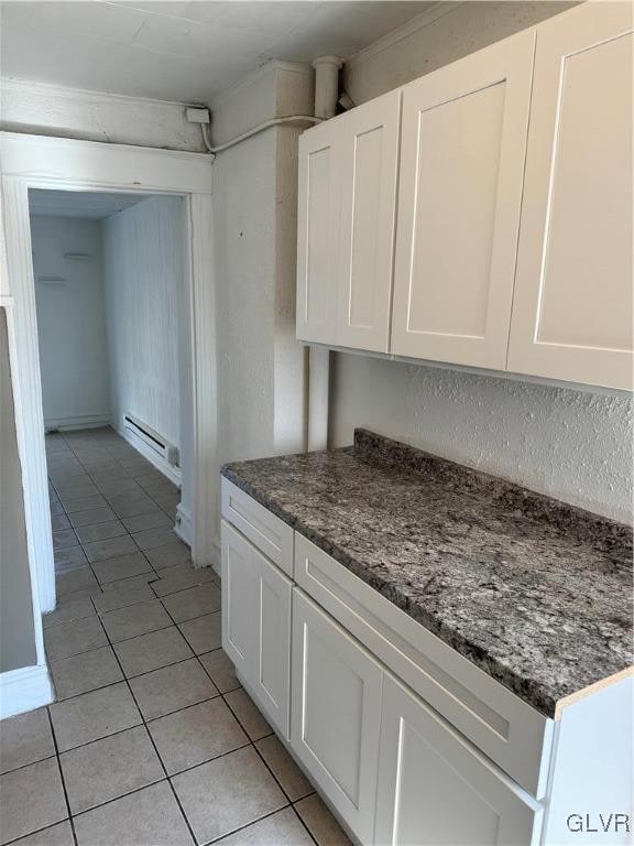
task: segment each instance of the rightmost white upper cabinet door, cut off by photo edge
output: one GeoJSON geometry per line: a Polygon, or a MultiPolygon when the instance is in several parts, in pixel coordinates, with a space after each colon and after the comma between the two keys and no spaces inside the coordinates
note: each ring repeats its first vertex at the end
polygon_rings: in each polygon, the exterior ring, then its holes
{"type": "Polygon", "coordinates": [[[538,30],[509,370],[632,387],[632,6],[538,30]]]}

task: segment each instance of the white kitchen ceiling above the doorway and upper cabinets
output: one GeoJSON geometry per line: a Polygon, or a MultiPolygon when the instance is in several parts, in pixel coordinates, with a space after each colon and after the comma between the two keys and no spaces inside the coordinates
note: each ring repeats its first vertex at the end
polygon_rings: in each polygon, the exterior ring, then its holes
{"type": "Polygon", "coordinates": [[[4,0],[0,72],[109,94],[210,102],[269,58],[347,58],[433,6],[414,0],[4,0]]]}

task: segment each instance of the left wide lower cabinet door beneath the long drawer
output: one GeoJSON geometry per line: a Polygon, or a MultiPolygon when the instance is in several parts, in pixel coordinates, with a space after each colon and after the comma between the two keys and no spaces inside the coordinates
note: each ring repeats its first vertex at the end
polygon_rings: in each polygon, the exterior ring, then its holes
{"type": "Polygon", "coordinates": [[[370,653],[295,588],[292,747],[363,844],[374,829],[382,676],[370,653]]]}

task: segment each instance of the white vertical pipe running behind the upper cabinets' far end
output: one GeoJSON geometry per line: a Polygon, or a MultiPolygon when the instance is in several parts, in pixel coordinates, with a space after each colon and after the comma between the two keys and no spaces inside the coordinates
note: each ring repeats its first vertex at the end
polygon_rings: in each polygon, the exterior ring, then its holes
{"type": "MultiPolygon", "coordinates": [[[[313,62],[315,68],[315,117],[334,118],[339,98],[338,56],[323,56],[313,62]]],[[[328,408],[330,350],[310,347],[308,352],[308,449],[328,446],[328,408]]]]}

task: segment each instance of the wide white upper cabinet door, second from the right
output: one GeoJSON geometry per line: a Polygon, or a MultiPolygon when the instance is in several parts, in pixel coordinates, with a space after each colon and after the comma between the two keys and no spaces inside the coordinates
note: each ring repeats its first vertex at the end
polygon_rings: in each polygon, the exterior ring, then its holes
{"type": "Polygon", "coordinates": [[[403,89],[392,352],[503,370],[534,31],[403,89]]]}

